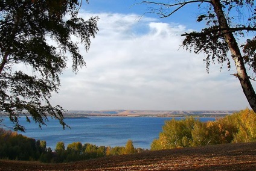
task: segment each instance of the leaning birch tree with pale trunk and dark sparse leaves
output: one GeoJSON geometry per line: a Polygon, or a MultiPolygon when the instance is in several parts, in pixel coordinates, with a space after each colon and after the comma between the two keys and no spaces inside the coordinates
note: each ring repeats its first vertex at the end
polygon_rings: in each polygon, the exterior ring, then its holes
{"type": "Polygon", "coordinates": [[[149,12],[160,17],[169,17],[184,6],[198,4],[201,14],[196,21],[205,21],[207,27],[200,32],[182,34],[185,36],[184,48],[206,54],[204,61],[207,72],[210,63],[216,61],[222,66],[226,63],[230,68],[232,59],[237,70],[233,75],[238,78],[249,105],[256,112],[256,94],[251,84],[251,80],[255,81],[256,73],[256,8],[253,0],[162,0],[141,3],[152,5],[149,12]],[[237,40],[245,35],[251,38],[239,47],[237,40]]]}

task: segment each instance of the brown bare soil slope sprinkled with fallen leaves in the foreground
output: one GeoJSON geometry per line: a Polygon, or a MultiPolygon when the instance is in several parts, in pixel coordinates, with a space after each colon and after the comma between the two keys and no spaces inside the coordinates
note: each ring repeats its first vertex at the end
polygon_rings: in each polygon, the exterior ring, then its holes
{"type": "Polygon", "coordinates": [[[64,164],[0,160],[2,170],[256,170],[256,143],[150,151],[64,164]]]}

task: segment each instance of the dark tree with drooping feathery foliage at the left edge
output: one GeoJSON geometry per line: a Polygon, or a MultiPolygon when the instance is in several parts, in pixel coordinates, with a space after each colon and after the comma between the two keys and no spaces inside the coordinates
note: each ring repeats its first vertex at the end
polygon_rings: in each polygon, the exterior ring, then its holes
{"type": "Polygon", "coordinates": [[[40,128],[48,116],[67,126],[63,108],[49,99],[59,89],[68,56],[74,72],[85,66],[78,43],[88,51],[98,31],[98,17],[77,17],[80,5],[78,0],[0,2],[0,113],[8,114],[14,130],[25,131],[19,124],[21,114],[28,122],[31,116],[40,128]],[[31,70],[19,70],[20,66],[31,70]]]}

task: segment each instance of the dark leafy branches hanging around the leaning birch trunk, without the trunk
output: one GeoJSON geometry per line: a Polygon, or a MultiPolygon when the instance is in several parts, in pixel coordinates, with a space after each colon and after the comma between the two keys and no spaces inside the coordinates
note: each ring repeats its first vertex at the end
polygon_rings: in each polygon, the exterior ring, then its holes
{"type": "MultiPolygon", "coordinates": [[[[220,69],[222,69],[223,63],[226,63],[229,69],[231,67],[228,45],[224,39],[225,34],[232,33],[238,40],[240,37],[253,35],[256,27],[254,1],[231,0],[220,1],[220,3],[228,22],[228,28],[220,27],[220,20],[211,2],[207,6],[202,3],[199,4],[199,8],[203,8],[205,11],[197,16],[197,22],[205,22],[208,27],[203,28],[200,32],[194,31],[182,35],[185,36],[183,42],[185,49],[206,54],[204,61],[207,72],[209,72],[210,63],[215,63],[215,61],[221,64],[220,69]]],[[[242,48],[251,47],[250,52],[248,49],[243,49],[244,62],[248,64],[249,69],[255,67],[255,49],[252,48],[255,45],[253,42],[253,40],[248,39],[241,46],[242,48]]],[[[255,73],[255,69],[253,72],[255,73]]]]}

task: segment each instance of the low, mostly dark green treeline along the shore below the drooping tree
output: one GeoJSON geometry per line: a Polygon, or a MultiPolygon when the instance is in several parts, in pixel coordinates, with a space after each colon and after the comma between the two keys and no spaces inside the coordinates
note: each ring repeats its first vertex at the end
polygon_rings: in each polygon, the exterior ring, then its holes
{"type": "Polygon", "coordinates": [[[35,140],[0,128],[0,159],[41,161],[43,163],[66,163],[88,160],[109,155],[123,155],[143,152],[135,148],[133,141],[128,140],[124,147],[96,146],[80,142],[69,144],[65,148],[63,142],[58,142],[56,149],[46,148],[46,141],[35,140]]]}

